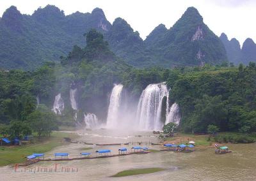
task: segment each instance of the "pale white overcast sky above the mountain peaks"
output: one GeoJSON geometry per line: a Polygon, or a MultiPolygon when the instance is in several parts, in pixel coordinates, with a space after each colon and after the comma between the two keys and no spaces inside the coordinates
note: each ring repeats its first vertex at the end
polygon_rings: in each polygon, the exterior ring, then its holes
{"type": "Polygon", "coordinates": [[[169,29],[186,8],[194,6],[216,35],[224,32],[229,40],[237,38],[241,44],[248,37],[256,40],[256,0],[0,0],[0,16],[12,5],[31,15],[47,4],[58,6],[65,15],[102,8],[109,22],[124,18],[143,39],[161,23],[169,29]]]}

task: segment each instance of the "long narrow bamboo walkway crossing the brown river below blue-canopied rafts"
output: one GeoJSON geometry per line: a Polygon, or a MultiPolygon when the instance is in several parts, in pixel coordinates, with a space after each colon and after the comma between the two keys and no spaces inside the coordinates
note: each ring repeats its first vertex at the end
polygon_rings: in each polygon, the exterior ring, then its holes
{"type": "Polygon", "coordinates": [[[18,166],[29,166],[30,164],[35,164],[40,161],[72,161],[72,160],[79,160],[79,159],[100,159],[106,157],[116,157],[116,156],[129,156],[132,154],[148,154],[150,152],[147,151],[140,151],[140,152],[129,152],[125,154],[113,154],[113,155],[105,155],[105,156],[94,156],[94,157],[70,157],[70,158],[53,158],[53,159],[34,159],[28,160],[25,163],[19,163],[18,166]]]}

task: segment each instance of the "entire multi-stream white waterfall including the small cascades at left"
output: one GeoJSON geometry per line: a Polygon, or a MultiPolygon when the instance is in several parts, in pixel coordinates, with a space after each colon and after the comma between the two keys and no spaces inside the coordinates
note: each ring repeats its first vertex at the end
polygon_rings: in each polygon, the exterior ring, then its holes
{"type": "MultiPolygon", "coordinates": [[[[139,101],[129,96],[124,85],[115,84],[109,97],[108,115],[106,122],[99,120],[95,113],[84,110],[83,122],[86,129],[99,129],[104,125],[106,129],[161,131],[164,124],[174,122],[179,124],[180,112],[177,103],[169,104],[169,91],[165,82],[149,84],[141,93],[139,101]],[[163,113],[163,111],[166,111],[163,113]]],[[[70,89],[70,105],[74,110],[74,120],[77,121],[77,89],[70,89]]],[[[64,101],[61,93],[55,96],[52,111],[61,114],[64,101]]],[[[76,122],[79,124],[79,122],[76,122]]]]}

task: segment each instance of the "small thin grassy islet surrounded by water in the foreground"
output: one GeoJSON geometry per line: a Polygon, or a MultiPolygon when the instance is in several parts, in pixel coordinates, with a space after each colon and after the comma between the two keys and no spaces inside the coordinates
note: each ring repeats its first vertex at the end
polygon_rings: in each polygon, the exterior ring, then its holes
{"type": "Polygon", "coordinates": [[[164,168],[139,168],[139,169],[132,169],[132,170],[124,170],[116,173],[112,177],[125,177],[125,176],[131,176],[131,175],[140,175],[140,174],[146,174],[146,173],[154,173],[157,171],[163,171],[164,168]]]}

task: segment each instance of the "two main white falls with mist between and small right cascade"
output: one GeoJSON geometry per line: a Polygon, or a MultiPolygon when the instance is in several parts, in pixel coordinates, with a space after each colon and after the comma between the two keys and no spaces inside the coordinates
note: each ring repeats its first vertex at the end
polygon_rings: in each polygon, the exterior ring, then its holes
{"type": "Polygon", "coordinates": [[[115,84],[109,99],[106,128],[161,131],[163,125],[169,122],[179,124],[179,106],[177,103],[169,105],[169,91],[165,82],[149,84],[141,93],[139,101],[131,103],[125,99],[124,86],[115,84]],[[165,115],[162,113],[164,108],[165,115]]]}

